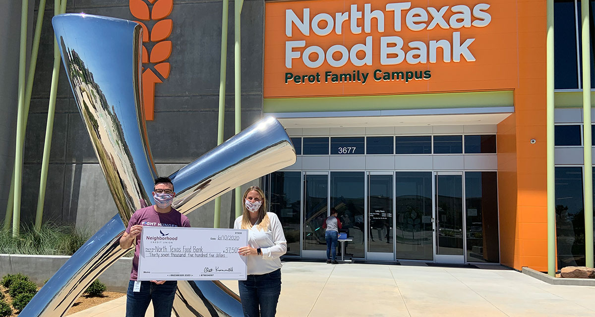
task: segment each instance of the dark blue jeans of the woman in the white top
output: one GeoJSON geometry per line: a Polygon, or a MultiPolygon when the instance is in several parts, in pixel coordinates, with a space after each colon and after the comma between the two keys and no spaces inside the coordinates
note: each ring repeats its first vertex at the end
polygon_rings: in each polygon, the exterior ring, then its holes
{"type": "Polygon", "coordinates": [[[281,294],[281,269],[267,274],[248,275],[246,281],[237,282],[245,317],[275,316],[281,294]]]}

